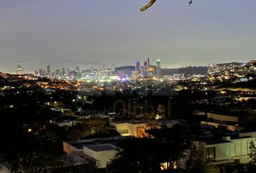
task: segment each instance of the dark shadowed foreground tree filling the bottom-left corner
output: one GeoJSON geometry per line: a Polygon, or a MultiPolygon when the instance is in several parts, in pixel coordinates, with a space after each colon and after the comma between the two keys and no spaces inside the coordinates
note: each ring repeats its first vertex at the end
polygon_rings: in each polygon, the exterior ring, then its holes
{"type": "Polygon", "coordinates": [[[64,154],[59,143],[22,130],[6,133],[8,136],[12,134],[12,138],[1,144],[0,167],[9,172],[47,172],[55,167],[72,165],[72,159],[64,154]]]}

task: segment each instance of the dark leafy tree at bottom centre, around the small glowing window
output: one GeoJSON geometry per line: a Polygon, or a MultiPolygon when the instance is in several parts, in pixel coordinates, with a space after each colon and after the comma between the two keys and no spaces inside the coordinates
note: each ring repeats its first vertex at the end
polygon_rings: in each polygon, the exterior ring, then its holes
{"type": "Polygon", "coordinates": [[[108,165],[108,172],[177,172],[179,160],[191,146],[189,131],[182,125],[149,130],[153,138],[132,138],[108,165]],[[163,166],[161,168],[161,166],[163,166]]]}

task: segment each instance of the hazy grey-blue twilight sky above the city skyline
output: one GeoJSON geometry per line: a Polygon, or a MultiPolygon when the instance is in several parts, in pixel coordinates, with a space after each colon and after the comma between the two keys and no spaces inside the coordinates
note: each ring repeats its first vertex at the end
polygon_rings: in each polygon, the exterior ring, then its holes
{"type": "Polygon", "coordinates": [[[1,0],[0,71],[256,59],[255,0],[1,0]]]}

